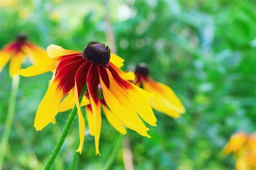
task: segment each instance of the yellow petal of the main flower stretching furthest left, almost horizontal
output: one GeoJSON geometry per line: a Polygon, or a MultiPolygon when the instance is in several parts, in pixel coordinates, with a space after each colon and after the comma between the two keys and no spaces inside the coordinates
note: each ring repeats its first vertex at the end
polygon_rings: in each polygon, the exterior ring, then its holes
{"type": "Polygon", "coordinates": [[[24,77],[37,76],[38,74],[42,74],[42,73],[56,69],[58,63],[59,63],[58,58],[52,58],[52,59],[45,60],[42,63],[32,65],[26,69],[21,69],[18,71],[18,73],[24,77]]]}

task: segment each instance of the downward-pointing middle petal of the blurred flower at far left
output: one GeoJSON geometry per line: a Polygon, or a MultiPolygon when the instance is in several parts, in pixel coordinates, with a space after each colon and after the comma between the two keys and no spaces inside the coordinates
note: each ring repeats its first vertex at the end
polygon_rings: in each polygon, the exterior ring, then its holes
{"type": "Polygon", "coordinates": [[[11,58],[10,66],[9,66],[9,73],[10,76],[14,76],[18,74],[19,69],[21,69],[22,62],[24,60],[24,55],[21,52],[18,52],[11,58]]]}

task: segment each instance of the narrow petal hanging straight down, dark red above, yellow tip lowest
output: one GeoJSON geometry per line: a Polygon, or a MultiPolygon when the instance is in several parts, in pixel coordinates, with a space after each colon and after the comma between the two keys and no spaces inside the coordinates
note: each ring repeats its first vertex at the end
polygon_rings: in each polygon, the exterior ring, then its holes
{"type": "Polygon", "coordinates": [[[99,136],[100,128],[102,126],[102,117],[100,115],[100,102],[97,94],[98,84],[99,84],[99,75],[97,66],[92,64],[87,75],[87,88],[89,92],[92,113],[93,113],[93,123],[95,126],[95,147],[96,155],[99,154],[99,136]]]}

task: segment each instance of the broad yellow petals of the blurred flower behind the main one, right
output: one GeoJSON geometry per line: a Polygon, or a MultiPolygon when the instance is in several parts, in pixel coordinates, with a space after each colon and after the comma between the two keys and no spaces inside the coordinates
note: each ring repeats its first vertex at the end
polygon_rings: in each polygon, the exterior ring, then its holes
{"type": "Polygon", "coordinates": [[[155,94],[151,105],[159,112],[174,118],[185,112],[185,107],[170,87],[147,78],[143,81],[143,88],[147,92],[155,94]]]}

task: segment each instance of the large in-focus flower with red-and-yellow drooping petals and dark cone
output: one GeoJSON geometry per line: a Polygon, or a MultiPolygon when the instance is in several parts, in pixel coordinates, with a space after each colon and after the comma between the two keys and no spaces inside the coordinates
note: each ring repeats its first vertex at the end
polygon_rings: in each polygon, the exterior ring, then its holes
{"type": "Polygon", "coordinates": [[[65,50],[57,45],[50,45],[47,52],[50,59],[19,72],[22,76],[36,76],[55,70],[49,88],[36,113],[34,126],[37,131],[42,130],[49,123],[56,123],[55,117],[60,110],[61,102],[63,102],[62,105],[65,105],[68,100],[71,103],[75,101],[73,103],[76,104],[78,110],[80,138],[77,151],[81,153],[85,123],[78,98],[86,85],[84,105],[90,103],[86,110],[90,133],[95,136],[96,154],[99,154],[101,106],[107,119],[119,131],[125,133],[125,129],[122,128],[125,126],[140,135],[150,137],[147,134],[149,128],[140,119],[156,126],[157,119],[149,103],[150,94],[126,80],[131,74],[126,74],[118,68],[123,65],[124,60],[110,52],[108,46],[90,42],[83,52],[77,52],[65,50]],[[67,96],[67,94],[69,95],[67,96]],[[66,101],[65,96],[69,98],[66,101]]]}

